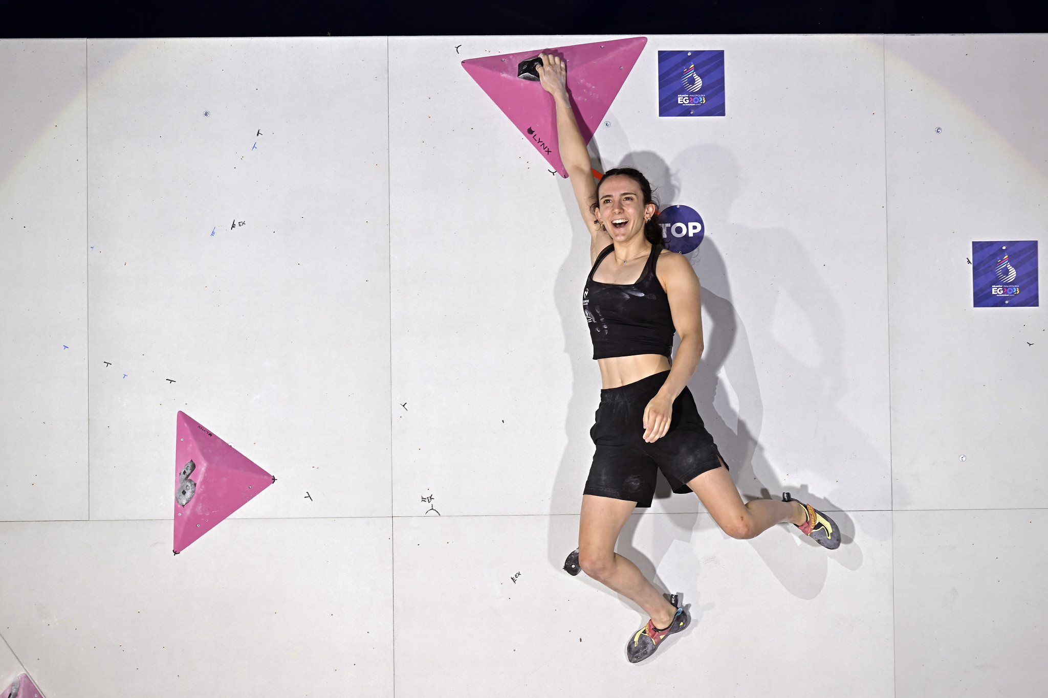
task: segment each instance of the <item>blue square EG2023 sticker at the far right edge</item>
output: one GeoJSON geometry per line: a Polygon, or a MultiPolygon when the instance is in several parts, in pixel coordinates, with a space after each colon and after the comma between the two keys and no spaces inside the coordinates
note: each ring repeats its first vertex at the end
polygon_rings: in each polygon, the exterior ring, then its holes
{"type": "Polygon", "coordinates": [[[971,296],[976,308],[1036,308],[1038,241],[973,242],[971,296]]]}

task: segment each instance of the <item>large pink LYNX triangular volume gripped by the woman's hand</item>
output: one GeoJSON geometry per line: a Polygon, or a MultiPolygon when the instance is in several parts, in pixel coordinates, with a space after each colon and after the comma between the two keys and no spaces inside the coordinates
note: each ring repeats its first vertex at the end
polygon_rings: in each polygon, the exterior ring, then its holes
{"type": "Polygon", "coordinates": [[[647,38],[636,37],[542,51],[485,55],[463,61],[462,67],[561,177],[567,177],[556,147],[553,97],[539,83],[518,77],[518,66],[540,52],[559,55],[567,62],[572,109],[583,140],[589,143],[647,43],[647,38]]]}

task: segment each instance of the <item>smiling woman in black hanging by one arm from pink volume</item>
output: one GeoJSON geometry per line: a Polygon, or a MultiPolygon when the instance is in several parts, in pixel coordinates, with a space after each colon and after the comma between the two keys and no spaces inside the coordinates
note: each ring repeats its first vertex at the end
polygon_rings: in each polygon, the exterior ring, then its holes
{"type": "Polygon", "coordinates": [[[656,469],[674,492],[695,492],[732,538],[752,538],[789,522],[833,549],[840,533],[828,516],[789,493],[782,501],[743,503],[687,389],[702,354],[699,279],[683,255],[662,247],[658,210],[642,174],[618,167],[599,183],[594,180],[571,111],[565,62],[546,53],[540,58],[542,87],[556,104],[561,160],[591,238],[583,312],[603,387],[590,429],[596,450],[583,491],[578,564],[649,614],[627,643],[629,660],[637,662],[691,622],[687,609],[676,607],[676,596],[670,603],[615,553],[634,508],[651,506],[656,469]],[[680,344],[671,363],[675,331],[680,344]]]}

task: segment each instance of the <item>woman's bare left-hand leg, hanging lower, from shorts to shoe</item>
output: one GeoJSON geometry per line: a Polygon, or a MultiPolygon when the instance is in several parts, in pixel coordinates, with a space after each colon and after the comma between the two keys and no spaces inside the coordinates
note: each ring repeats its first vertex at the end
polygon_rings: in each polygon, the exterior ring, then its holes
{"type": "Polygon", "coordinates": [[[645,579],[635,564],[615,553],[618,533],[636,505],[625,499],[583,495],[578,566],[597,582],[645,609],[656,628],[667,628],[677,609],[645,579]]]}

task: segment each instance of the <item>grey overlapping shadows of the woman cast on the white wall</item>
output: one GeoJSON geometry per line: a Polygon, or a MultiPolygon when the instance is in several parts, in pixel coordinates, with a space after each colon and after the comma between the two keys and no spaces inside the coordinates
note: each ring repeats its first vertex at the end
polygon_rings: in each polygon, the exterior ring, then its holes
{"type": "MultiPolygon", "coordinates": [[[[759,347],[767,347],[768,352],[781,355],[778,363],[786,366],[789,374],[785,382],[804,386],[809,392],[806,396],[808,401],[811,400],[811,391],[817,393],[821,405],[818,425],[807,454],[802,454],[802,457],[818,458],[828,446],[820,443],[818,434],[825,434],[832,435],[836,444],[845,443],[851,447],[850,463],[875,463],[879,456],[865,434],[834,407],[847,388],[842,368],[843,341],[838,335],[840,310],[833,303],[830,289],[815,273],[807,252],[789,231],[782,228],[748,228],[728,222],[732,204],[742,190],[742,181],[735,156],[726,148],[696,145],[680,153],[672,165],[654,153],[634,152],[623,158],[618,166],[634,166],[645,173],[662,206],[671,203],[691,205],[702,212],[707,230],[713,230],[690,255],[702,286],[706,324],[703,327],[705,348],[702,360],[689,387],[743,499],[778,498],[786,490],[817,509],[836,512],[834,519],[842,528],[843,545],[829,555],[800,534],[796,534],[794,546],[783,546],[770,536],[746,541],[784,588],[798,598],[812,599],[825,584],[830,557],[849,569],[857,569],[863,564],[863,553],[854,543],[854,524],[846,513],[833,504],[832,492],[810,493],[807,485],[794,485],[798,480],[783,482],[777,472],[788,465],[786,470],[792,472],[795,468],[798,475],[803,477],[806,470],[804,463],[777,464],[778,469],[771,467],[760,444],[764,403],[750,340],[759,347]],[[746,297],[750,306],[746,311],[748,328],[733,301],[727,265],[717,239],[743,239],[749,243],[746,258],[736,264],[759,270],[788,268],[788,273],[774,275],[759,288],[747,289],[746,297]],[[786,296],[786,302],[792,303],[794,315],[801,312],[810,318],[807,324],[811,331],[807,334],[813,344],[808,352],[799,352],[795,345],[783,345],[777,338],[789,335],[789,329],[782,328],[781,323],[788,320],[790,312],[777,310],[784,302],[783,296],[786,296]]],[[[588,330],[582,320],[581,296],[585,276],[580,278],[576,272],[581,258],[588,273],[589,235],[580,217],[574,215],[576,206],[566,181],[562,183],[561,194],[565,209],[571,212],[572,245],[569,257],[558,275],[554,295],[564,330],[565,351],[573,370],[572,395],[565,424],[568,443],[550,501],[550,511],[554,514],[578,511],[590,464],[578,463],[577,454],[592,453],[592,444],[589,443],[592,425],[590,410],[598,402],[596,390],[599,388],[599,375],[590,358],[588,330]],[[580,443],[581,440],[585,440],[586,444],[580,443]]],[[[741,275],[735,274],[736,277],[741,275]]],[[[825,453],[822,457],[825,459],[825,453]]],[[[847,468],[847,464],[842,464],[842,477],[838,479],[844,479],[847,468]]],[[[668,498],[671,494],[669,483],[660,474],[656,499],[668,498]]],[[[698,510],[697,500],[695,504],[698,510]]],[[[642,514],[634,514],[626,524],[617,549],[636,563],[649,579],[654,579],[656,586],[668,591],[681,588],[679,581],[667,584],[659,579],[657,568],[675,540],[691,542],[698,514],[659,516],[655,522],[655,549],[645,553],[635,549],[632,543],[640,516],[642,514]]],[[[724,535],[719,531],[718,534],[724,535]]],[[[569,551],[554,549],[551,545],[550,564],[561,567],[569,551]]],[[[591,584],[612,593],[599,584],[591,584]]],[[[633,607],[625,598],[620,600],[633,607]]]]}

